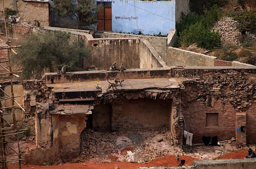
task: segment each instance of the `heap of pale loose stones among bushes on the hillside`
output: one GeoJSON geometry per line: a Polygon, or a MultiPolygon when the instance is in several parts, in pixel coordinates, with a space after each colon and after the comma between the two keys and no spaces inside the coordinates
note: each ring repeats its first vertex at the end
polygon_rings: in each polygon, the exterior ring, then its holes
{"type": "Polygon", "coordinates": [[[214,24],[212,30],[221,35],[222,45],[239,44],[242,39],[241,32],[237,29],[237,21],[231,17],[223,17],[214,24]]]}

